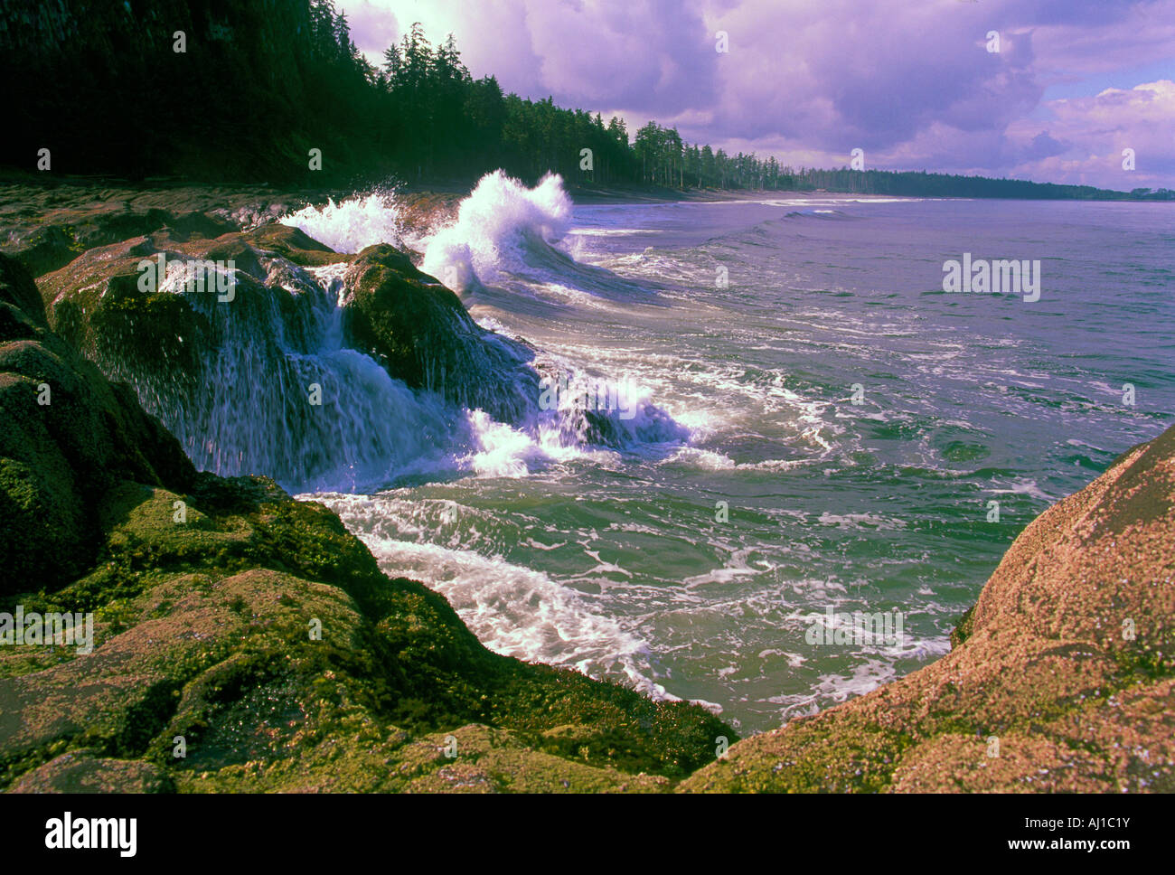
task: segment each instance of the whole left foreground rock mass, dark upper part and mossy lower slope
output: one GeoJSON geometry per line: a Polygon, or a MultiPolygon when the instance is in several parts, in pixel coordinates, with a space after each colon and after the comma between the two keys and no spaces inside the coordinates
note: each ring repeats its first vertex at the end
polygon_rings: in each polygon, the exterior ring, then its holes
{"type": "Polygon", "coordinates": [[[195,473],[2,256],[0,332],[0,612],[94,614],[89,653],[0,647],[0,789],[660,792],[733,736],[490,653],[324,506],[195,473]]]}

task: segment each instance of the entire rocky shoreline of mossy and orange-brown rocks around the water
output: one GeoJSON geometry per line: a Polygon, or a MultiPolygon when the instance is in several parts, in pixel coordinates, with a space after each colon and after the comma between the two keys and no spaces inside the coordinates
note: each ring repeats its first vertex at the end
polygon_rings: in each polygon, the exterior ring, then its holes
{"type": "MultiPolygon", "coordinates": [[[[506,419],[533,403],[477,396],[486,371],[525,385],[528,348],[407,254],[343,256],[267,223],[315,197],[0,195],[0,612],[96,617],[90,654],[0,647],[0,788],[1175,789],[1175,429],[1032,523],[947,657],[736,743],[698,706],[490,653],[325,507],[199,473],[145,412],[176,375],[196,409],[221,330],[214,296],[141,291],[160,253],[231,260],[241,299],[290,324],[297,270],[336,264],[352,344],[389,375],[506,419]]],[[[414,195],[405,215],[454,198],[414,195]]]]}

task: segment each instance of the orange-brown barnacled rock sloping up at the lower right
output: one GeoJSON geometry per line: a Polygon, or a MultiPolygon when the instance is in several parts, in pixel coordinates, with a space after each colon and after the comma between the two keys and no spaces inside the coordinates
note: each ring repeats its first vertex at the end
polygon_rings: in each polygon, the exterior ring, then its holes
{"type": "Polygon", "coordinates": [[[1175,429],[1034,520],[953,640],[682,789],[1175,790],[1175,429]]]}

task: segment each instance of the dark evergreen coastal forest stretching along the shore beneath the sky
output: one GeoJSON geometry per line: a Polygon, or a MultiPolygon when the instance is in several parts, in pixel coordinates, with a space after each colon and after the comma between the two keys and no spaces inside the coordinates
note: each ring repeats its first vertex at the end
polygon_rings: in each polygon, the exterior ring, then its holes
{"type": "Polygon", "coordinates": [[[629,130],[618,116],[505,93],[470,74],[451,35],[434,45],[418,23],[376,66],[331,0],[18,4],[0,8],[0,49],[11,92],[0,163],[18,170],[427,187],[503,168],[579,187],[1175,197],[731,155],[656,121],[629,130]]]}

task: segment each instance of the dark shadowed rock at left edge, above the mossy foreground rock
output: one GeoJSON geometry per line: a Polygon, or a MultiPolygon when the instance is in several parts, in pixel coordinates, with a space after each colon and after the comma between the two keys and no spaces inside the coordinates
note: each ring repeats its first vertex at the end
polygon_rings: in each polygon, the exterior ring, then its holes
{"type": "Polygon", "coordinates": [[[49,331],[36,285],[0,256],[0,594],[89,566],[92,510],[122,479],[183,489],[195,469],[126,385],[49,331]]]}

